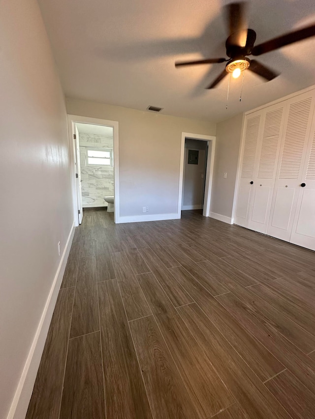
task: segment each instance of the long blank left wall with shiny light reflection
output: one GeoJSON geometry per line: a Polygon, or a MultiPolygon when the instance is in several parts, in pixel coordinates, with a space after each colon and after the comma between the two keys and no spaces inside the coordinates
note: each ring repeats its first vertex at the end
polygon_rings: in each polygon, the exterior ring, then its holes
{"type": "Polygon", "coordinates": [[[57,244],[63,252],[73,212],[64,97],[35,0],[1,1],[0,39],[2,419],[61,261],[57,244]]]}

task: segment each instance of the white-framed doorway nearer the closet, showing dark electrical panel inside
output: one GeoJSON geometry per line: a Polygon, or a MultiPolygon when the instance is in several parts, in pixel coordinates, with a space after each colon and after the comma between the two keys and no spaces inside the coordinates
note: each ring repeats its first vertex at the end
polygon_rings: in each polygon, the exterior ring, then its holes
{"type": "Polygon", "coordinates": [[[178,218],[188,209],[203,209],[209,217],[215,142],[213,136],[182,133],[178,218]]]}

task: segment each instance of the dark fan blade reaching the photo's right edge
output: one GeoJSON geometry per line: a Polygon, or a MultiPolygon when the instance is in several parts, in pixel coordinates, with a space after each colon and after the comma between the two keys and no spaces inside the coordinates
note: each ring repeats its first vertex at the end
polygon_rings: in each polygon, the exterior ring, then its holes
{"type": "Polygon", "coordinates": [[[315,36],[315,25],[311,25],[303,29],[298,29],[294,32],[286,33],[285,35],[278,36],[277,38],[270,39],[270,41],[256,45],[252,49],[252,55],[260,56],[261,54],[269,53],[270,51],[277,50],[278,48],[284,47],[285,45],[293,44],[294,42],[310,38],[311,36],[315,36]]]}

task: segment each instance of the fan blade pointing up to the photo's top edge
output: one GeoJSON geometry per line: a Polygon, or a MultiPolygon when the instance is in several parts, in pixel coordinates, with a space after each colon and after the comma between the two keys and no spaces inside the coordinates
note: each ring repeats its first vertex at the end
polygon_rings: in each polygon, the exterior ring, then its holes
{"type": "Polygon", "coordinates": [[[248,31],[247,3],[230,3],[225,6],[225,10],[230,44],[245,47],[248,31]]]}

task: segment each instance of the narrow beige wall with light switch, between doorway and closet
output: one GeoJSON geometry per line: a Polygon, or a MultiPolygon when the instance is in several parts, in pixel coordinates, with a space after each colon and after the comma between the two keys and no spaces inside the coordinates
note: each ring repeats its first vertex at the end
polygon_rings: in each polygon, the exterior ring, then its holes
{"type": "Polygon", "coordinates": [[[216,154],[210,211],[232,217],[243,114],[217,124],[216,154]],[[223,174],[227,173],[226,179],[223,174]]]}

